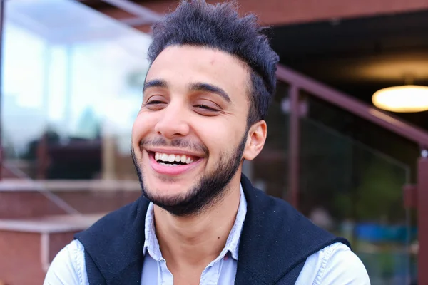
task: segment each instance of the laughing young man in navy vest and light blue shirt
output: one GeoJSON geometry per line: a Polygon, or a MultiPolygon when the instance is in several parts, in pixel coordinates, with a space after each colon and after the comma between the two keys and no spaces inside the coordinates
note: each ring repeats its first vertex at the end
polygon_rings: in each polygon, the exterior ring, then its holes
{"type": "Polygon", "coordinates": [[[345,239],[241,175],[275,91],[261,30],[198,0],[156,24],[131,139],[143,195],[77,234],[45,284],[370,284],[345,239]]]}

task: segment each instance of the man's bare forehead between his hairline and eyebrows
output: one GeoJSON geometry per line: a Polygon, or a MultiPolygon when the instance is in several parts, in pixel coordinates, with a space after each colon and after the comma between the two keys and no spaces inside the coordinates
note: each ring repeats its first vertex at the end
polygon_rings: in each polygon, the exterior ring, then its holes
{"type": "Polygon", "coordinates": [[[212,48],[169,46],[153,61],[146,81],[161,79],[168,86],[212,83],[231,95],[248,93],[249,68],[239,58],[212,48]]]}

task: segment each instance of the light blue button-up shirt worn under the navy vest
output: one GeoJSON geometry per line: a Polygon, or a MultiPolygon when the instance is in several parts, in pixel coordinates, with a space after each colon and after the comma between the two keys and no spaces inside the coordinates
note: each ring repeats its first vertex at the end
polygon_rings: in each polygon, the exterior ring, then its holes
{"type": "MultiPolygon", "coordinates": [[[[247,202],[240,189],[240,204],[235,223],[220,255],[204,269],[200,285],[230,285],[235,281],[240,232],[247,213],[247,202]]],[[[146,214],[141,284],[173,285],[173,275],[162,257],[156,238],[153,204],[146,214]]],[[[59,252],[46,274],[44,285],[88,285],[83,245],[73,240],[59,252]]],[[[332,244],[308,257],[297,285],[369,285],[370,279],[360,259],[345,244],[332,244]]]]}

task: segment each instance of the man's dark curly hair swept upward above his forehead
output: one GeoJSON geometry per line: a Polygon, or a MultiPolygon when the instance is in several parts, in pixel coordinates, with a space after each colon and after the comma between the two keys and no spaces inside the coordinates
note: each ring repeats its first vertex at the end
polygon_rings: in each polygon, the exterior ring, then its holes
{"type": "Polygon", "coordinates": [[[203,46],[237,56],[250,67],[248,126],[264,120],[275,93],[277,53],[270,48],[254,14],[240,17],[235,1],[207,4],[182,0],[175,11],[153,26],[148,49],[151,63],[168,46],[203,46]]]}

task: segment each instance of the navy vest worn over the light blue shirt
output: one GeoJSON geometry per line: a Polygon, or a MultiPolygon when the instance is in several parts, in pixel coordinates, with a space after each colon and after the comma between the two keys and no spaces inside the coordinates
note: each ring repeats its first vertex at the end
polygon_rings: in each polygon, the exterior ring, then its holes
{"type": "MultiPolygon", "coordinates": [[[[235,284],[295,284],[307,257],[335,242],[350,247],[287,202],[255,189],[244,175],[241,184],[248,205],[235,284]]],[[[141,196],[76,234],[85,247],[90,285],[141,284],[147,208],[141,196]]]]}

